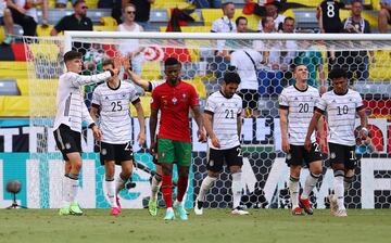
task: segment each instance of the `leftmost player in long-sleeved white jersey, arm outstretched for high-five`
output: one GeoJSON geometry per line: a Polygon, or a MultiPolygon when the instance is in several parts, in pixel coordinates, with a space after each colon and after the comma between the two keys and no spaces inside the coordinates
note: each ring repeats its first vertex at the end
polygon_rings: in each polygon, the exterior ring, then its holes
{"type": "Polygon", "coordinates": [[[81,122],[87,122],[96,139],[101,132],[88,113],[83,100],[81,86],[110,79],[118,73],[115,68],[92,76],[79,75],[81,72],[81,53],[68,51],[64,55],[67,72],[60,76],[56,92],[56,115],[53,133],[58,148],[65,161],[63,180],[63,205],[60,215],[83,215],[76,196],[78,192],[78,175],[81,168],[81,122]]]}

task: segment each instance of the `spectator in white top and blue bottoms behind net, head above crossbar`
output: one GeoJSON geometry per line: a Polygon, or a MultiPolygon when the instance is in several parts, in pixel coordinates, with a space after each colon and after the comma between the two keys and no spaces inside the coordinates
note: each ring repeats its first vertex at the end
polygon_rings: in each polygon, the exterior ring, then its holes
{"type": "MultiPolygon", "coordinates": [[[[266,16],[261,20],[262,33],[275,33],[275,23],[272,16],[266,16]]],[[[258,91],[262,98],[269,99],[278,95],[282,91],[281,79],[282,72],[280,71],[280,41],[254,41],[254,48],[262,52],[262,65],[258,72],[258,91]]]]}

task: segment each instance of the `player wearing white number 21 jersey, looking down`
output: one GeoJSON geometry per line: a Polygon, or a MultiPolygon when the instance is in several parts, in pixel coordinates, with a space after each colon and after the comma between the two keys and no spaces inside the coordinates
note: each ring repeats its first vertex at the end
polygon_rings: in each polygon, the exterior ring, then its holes
{"type": "Polygon", "coordinates": [[[240,148],[242,99],[236,94],[240,76],[234,72],[224,74],[219,91],[212,93],[206,101],[203,122],[209,135],[207,176],[203,179],[195,200],[195,215],[203,214],[205,194],[217,180],[226,164],[232,176],[232,215],[248,215],[240,206],[242,196],[241,167],[243,157],[240,148]]]}

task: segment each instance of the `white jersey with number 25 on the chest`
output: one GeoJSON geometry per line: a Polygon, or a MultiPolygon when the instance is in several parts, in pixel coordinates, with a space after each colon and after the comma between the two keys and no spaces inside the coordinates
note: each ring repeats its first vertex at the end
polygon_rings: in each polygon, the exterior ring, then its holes
{"type": "Polygon", "coordinates": [[[130,102],[139,101],[136,87],[126,81],[121,81],[116,89],[108,82],[94,89],[92,106],[100,110],[99,128],[103,142],[122,144],[131,140],[130,102]]]}

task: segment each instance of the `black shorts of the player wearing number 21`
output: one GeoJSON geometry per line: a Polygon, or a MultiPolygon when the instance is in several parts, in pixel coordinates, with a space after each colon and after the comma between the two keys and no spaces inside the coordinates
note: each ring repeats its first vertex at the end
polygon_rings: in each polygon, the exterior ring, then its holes
{"type": "Polygon", "coordinates": [[[209,148],[207,150],[207,170],[219,172],[223,170],[224,163],[230,166],[242,166],[243,156],[240,145],[228,150],[214,150],[209,148]]]}

